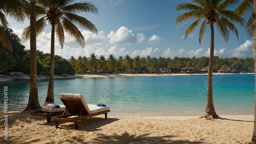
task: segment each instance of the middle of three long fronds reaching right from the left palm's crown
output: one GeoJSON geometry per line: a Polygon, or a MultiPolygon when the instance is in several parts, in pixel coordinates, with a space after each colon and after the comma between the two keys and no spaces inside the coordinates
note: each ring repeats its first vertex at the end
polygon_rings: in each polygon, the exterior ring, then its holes
{"type": "Polygon", "coordinates": [[[84,17],[78,16],[76,14],[72,14],[72,13],[64,13],[64,14],[66,18],[69,19],[75,25],[79,25],[82,28],[98,35],[97,27],[91,21],[87,20],[84,17]]]}

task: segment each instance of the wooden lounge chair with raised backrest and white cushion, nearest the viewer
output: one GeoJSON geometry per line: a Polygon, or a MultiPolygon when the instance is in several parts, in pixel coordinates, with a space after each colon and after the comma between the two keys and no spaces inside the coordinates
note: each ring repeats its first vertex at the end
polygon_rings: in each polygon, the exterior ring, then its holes
{"type": "Polygon", "coordinates": [[[108,117],[108,112],[110,112],[109,106],[99,107],[94,104],[87,104],[81,94],[66,94],[61,93],[60,100],[66,106],[66,110],[63,112],[62,116],[53,117],[52,120],[55,121],[55,127],[58,128],[58,122],[73,122],[75,123],[75,129],[78,128],[78,121],[87,119],[99,114],[105,114],[105,119],[108,117]]]}

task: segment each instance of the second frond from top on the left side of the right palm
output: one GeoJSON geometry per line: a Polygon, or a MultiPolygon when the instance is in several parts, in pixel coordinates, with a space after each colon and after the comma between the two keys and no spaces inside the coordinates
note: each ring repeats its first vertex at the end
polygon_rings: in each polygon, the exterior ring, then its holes
{"type": "Polygon", "coordinates": [[[189,20],[191,18],[199,18],[203,16],[203,11],[190,11],[190,12],[186,12],[180,16],[177,17],[175,24],[185,21],[185,20],[189,20]]]}

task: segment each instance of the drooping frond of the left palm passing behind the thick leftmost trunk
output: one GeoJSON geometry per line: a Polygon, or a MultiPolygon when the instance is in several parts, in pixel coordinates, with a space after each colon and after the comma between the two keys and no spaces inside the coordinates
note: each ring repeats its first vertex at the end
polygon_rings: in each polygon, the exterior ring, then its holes
{"type": "MultiPolygon", "coordinates": [[[[47,20],[42,17],[36,21],[36,36],[39,36],[47,27],[47,20]]],[[[30,26],[24,28],[22,32],[22,41],[26,42],[30,39],[30,26]]]]}

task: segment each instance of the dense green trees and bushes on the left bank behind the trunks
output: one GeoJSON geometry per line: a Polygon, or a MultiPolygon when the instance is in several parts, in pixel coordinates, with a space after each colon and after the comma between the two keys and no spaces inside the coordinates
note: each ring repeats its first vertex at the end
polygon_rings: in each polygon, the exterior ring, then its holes
{"type": "MultiPolygon", "coordinates": [[[[2,27],[8,40],[12,44],[13,52],[9,53],[0,43],[0,71],[8,73],[11,71],[30,73],[30,50],[25,50],[25,46],[10,28],[2,27]],[[2,69],[2,70],[1,70],[2,69]]],[[[49,75],[50,70],[50,54],[37,50],[37,74],[49,75]]],[[[72,65],[61,56],[55,55],[54,74],[70,74],[74,75],[75,70],[72,65]]]]}

